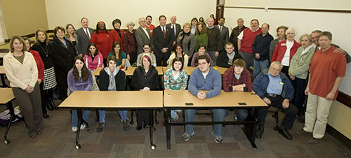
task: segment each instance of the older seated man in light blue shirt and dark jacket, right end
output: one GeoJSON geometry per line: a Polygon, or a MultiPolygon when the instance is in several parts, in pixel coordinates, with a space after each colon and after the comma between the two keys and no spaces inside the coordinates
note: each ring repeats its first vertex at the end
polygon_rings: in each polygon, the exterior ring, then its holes
{"type": "MultiPolygon", "coordinates": [[[[298,115],[298,108],[289,104],[293,99],[293,86],[289,78],[284,73],[281,73],[283,65],[280,62],[272,62],[269,69],[265,69],[258,74],[253,81],[253,91],[260,96],[269,106],[274,106],[286,113],[282,124],[279,126],[279,134],[284,138],[292,140],[293,137],[286,129],[293,128],[293,122],[298,115]]],[[[268,108],[258,109],[258,129],[257,138],[261,138],[264,131],[265,117],[268,108]]]]}

